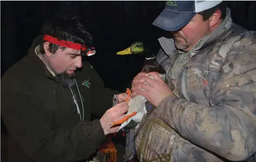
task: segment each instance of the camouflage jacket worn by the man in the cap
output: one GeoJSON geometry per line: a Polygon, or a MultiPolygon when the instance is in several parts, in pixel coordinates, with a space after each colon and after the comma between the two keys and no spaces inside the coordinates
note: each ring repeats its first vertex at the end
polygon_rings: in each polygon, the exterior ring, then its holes
{"type": "Polygon", "coordinates": [[[159,38],[167,96],[157,116],[177,133],[171,161],[256,161],[256,32],[224,22],[190,52],[159,38]]]}

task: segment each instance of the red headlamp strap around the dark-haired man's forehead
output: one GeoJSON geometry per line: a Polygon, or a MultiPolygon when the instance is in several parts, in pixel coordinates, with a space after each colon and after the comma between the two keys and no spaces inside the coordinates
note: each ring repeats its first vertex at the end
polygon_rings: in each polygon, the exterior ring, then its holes
{"type": "Polygon", "coordinates": [[[59,45],[59,46],[63,46],[63,47],[67,47],[67,48],[71,48],[73,50],[82,50],[82,51],[86,51],[88,48],[85,45],[81,45],[81,44],[77,44],[77,43],[72,43],[70,41],[66,41],[66,40],[58,40],[55,37],[51,37],[48,35],[44,35],[44,40],[49,41],[50,43],[59,45]]]}

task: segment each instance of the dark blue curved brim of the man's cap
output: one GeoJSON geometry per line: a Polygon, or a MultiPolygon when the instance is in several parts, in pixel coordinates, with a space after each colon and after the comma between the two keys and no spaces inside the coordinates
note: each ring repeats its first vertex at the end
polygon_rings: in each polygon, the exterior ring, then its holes
{"type": "Polygon", "coordinates": [[[167,31],[176,31],[190,22],[195,15],[195,12],[175,12],[164,9],[152,25],[167,31]]]}

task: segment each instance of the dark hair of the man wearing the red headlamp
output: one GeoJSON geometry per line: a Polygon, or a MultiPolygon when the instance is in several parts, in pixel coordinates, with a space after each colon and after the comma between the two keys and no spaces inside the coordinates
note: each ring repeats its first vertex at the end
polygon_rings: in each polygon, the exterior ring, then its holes
{"type": "MultiPolygon", "coordinates": [[[[43,25],[41,32],[57,39],[79,43],[87,47],[90,47],[92,43],[91,34],[87,32],[84,26],[79,22],[77,16],[53,17],[43,25]]],[[[40,53],[45,53],[44,42],[40,45],[40,53]]],[[[52,43],[49,44],[49,51],[53,54],[59,48],[65,50],[66,47],[52,43]]]]}

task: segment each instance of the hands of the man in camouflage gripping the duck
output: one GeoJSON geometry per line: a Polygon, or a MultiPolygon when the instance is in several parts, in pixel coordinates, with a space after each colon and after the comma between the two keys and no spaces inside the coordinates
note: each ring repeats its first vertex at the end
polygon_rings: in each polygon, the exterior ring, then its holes
{"type": "Polygon", "coordinates": [[[132,91],[132,96],[142,95],[156,107],[165,97],[173,95],[171,89],[156,72],[149,73],[148,75],[146,73],[138,74],[132,81],[132,91]],[[149,78],[149,75],[153,79],[149,78]]]}

